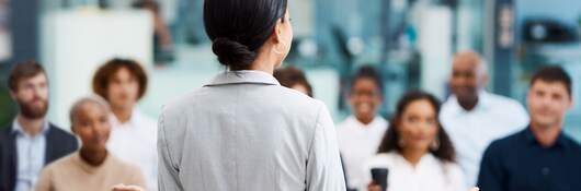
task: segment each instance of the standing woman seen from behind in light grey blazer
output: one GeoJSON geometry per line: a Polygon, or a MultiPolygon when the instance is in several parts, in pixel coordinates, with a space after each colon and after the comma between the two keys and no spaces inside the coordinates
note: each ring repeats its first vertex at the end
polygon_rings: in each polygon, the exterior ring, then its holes
{"type": "Polygon", "coordinates": [[[344,191],[327,107],[272,75],[293,39],[287,0],[206,0],[204,23],[228,71],[164,106],[160,190],[344,191]]]}

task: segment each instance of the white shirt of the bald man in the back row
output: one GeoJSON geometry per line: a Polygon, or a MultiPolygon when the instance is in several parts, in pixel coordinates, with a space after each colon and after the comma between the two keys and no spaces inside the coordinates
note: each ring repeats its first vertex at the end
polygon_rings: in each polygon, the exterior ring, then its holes
{"type": "Polygon", "coordinates": [[[462,108],[456,96],[451,96],[442,105],[440,120],[456,148],[467,183],[475,186],[488,145],[524,129],[528,115],[517,102],[482,91],[470,111],[462,108]]]}

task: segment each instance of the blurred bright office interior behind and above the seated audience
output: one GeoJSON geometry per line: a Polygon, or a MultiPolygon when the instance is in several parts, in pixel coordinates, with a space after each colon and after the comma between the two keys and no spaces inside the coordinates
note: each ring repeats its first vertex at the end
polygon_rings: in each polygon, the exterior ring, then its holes
{"type": "MultiPolygon", "coordinates": [[[[581,1],[579,0],[292,0],[295,29],[286,65],[304,69],[315,97],[335,121],[350,112],[346,85],[363,64],[385,82],[381,115],[406,91],[441,99],[454,52],[485,56],[488,89],[524,105],[531,74],[559,64],[574,79],[577,103],[566,131],[581,140],[581,1]]],[[[226,70],[204,32],[203,0],[0,0],[0,124],[16,107],[5,80],[15,61],[48,70],[49,119],[68,127],[67,112],[91,93],[94,69],[112,57],[144,63],[150,85],[139,108],[156,118],[168,100],[226,70]],[[161,28],[161,29],[160,29],[161,28]]]]}

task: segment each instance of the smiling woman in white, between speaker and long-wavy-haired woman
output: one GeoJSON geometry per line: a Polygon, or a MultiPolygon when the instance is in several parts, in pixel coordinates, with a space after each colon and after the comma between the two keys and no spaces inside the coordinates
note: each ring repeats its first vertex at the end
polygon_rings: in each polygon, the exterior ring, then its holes
{"type": "Polygon", "coordinates": [[[367,186],[361,167],[377,152],[387,130],[387,120],[377,112],[383,100],[381,77],[369,65],[362,67],[351,82],[350,104],[353,115],[339,124],[339,151],[350,190],[367,186]]]}

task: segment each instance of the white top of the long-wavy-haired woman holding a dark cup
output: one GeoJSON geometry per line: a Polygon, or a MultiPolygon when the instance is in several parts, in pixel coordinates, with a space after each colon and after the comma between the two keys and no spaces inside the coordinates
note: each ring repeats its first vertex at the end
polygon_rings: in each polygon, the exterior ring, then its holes
{"type": "Polygon", "coordinates": [[[432,154],[425,154],[413,166],[397,152],[381,153],[368,159],[362,167],[364,186],[372,182],[373,168],[387,168],[388,191],[466,191],[464,175],[458,165],[442,162],[432,154]]]}

